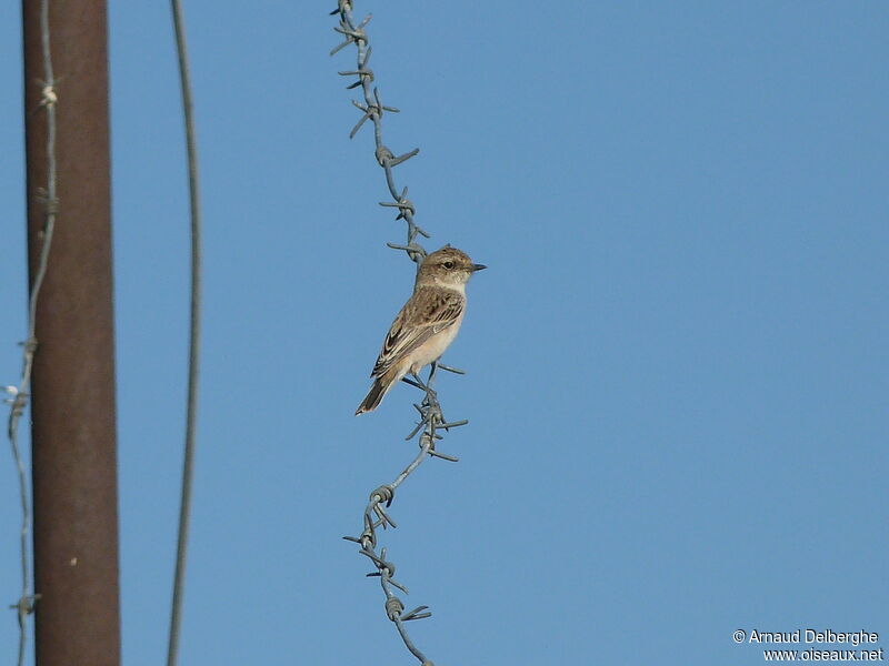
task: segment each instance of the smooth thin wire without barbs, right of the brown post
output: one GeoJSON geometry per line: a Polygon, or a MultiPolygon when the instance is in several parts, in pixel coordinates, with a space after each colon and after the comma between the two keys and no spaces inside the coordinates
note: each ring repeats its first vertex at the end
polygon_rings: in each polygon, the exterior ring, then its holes
{"type": "Polygon", "coordinates": [[[170,637],[167,648],[167,666],[174,666],[179,658],[179,634],[182,620],[182,598],[186,581],[189,519],[191,515],[191,487],[194,470],[194,433],[198,412],[198,362],[200,357],[201,313],[201,213],[198,191],[198,148],[194,138],[194,114],[191,100],[191,74],[186,48],[184,19],[179,0],[170,1],[176,32],[176,50],[179,59],[179,80],[182,89],[182,112],[186,123],[188,151],[188,184],[191,204],[191,314],[188,357],[188,406],[186,414],[186,451],[182,463],[182,495],[179,505],[179,536],[176,548],[176,576],[173,579],[172,609],[170,613],[170,637]]]}

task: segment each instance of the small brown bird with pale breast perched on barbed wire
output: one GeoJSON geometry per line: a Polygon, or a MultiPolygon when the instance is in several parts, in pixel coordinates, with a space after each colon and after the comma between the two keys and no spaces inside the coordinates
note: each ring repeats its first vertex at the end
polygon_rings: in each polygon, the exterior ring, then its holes
{"type": "Polygon", "coordinates": [[[417,374],[424,365],[438,361],[463,321],[466,283],[472,273],[485,268],[450,245],[423,259],[417,271],[413,294],[383,340],[382,351],[370,373],[373,385],[356,410],[356,416],[376,410],[404,375],[417,374]]]}

